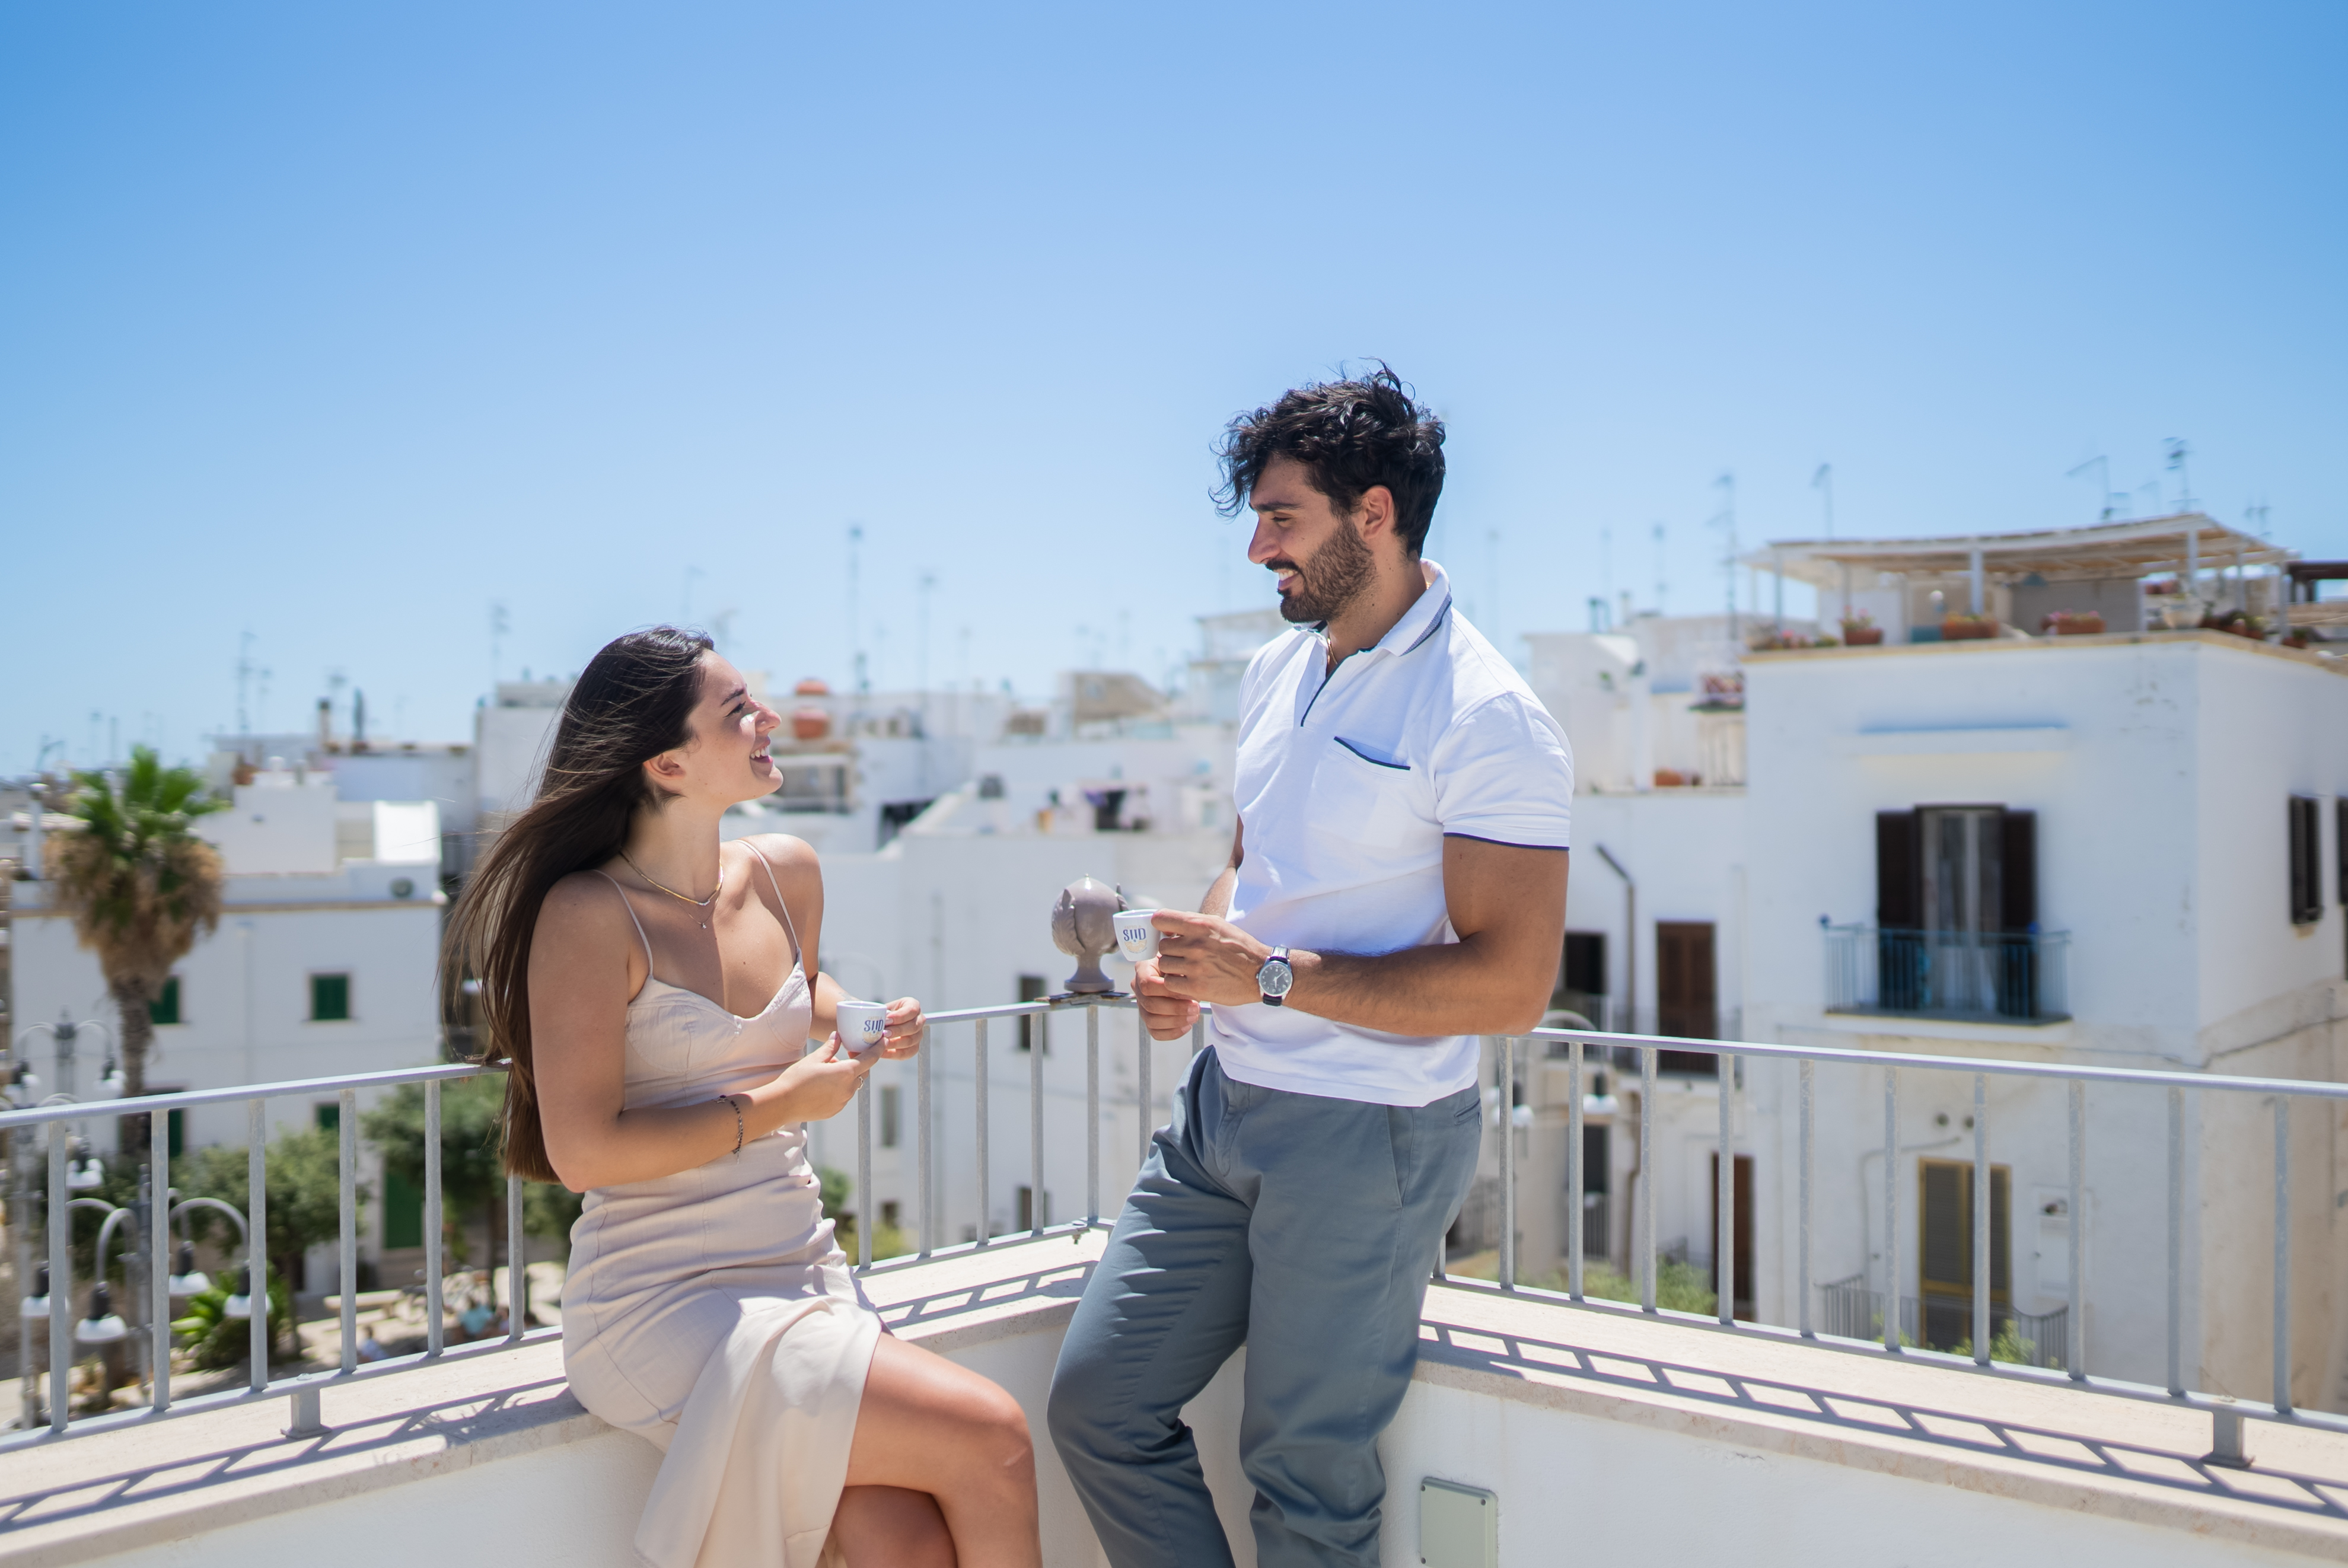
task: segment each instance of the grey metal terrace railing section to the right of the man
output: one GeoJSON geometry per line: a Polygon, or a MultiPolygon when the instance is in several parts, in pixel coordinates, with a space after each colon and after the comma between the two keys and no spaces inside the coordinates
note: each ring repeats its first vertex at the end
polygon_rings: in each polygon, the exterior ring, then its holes
{"type": "MultiPolygon", "coordinates": [[[[2348,1084],[2332,1082],[2301,1082],[2282,1077],[2238,1077],[2224,1073],[2163,1073],[2146,1068],[2094,1068],[2094,1066],[2064,1066],[2064,1063],[2038,1063],[2038,1061],[1996,1061],[1977,1056],[1921,1056],[1904,1052],[1860,1052],[1860,1049],[1836,1049],[1836,1047],[1808,1047],[1808,1045],[1759,1045],[1749,1040],[1674,1040],[1662,1035],[1606,1035],[1585,1030],[1559,1030],[1538,1028],[1531,1035],[1496,1035],[1489,1038],[1496,1052],[1496,1082],[1500,1087],[1500,1127],[1510,1127],[1514,1115],[1517,1096],[1517,1059],[1519,1045],[1526,1040],[1564,1042],[1571,1063],[1568,1082],[1573,1091],[1566,1096],[1566,1289],[1543,1291],[1536,1286],[1524,1286],[1517,1282],[1517,1138],[1500,1138],[1500,1199],[1505,1216],[1500,1223],[1500,1263],[1498,1282],[1463,1282],[1456,1277],[1444,1277],[1437,1272],[1437,1284],[1456,1289],[1498,1289],[1507,1293],[1538,1296],[1547,1300],[1559,1300],[1576,1307],[1599,1310],[1599,1312],[1644,1312],[1651,1317],[1667,1317],[1681,1324],[1695,1324],[1702,1329],[1716,1329],[1723,1333],[1749,1333],[1763,1338],[1796,1338],[1803,1343],[1827,1345],[1831,1350],[1850,1350],[1857,1354],[1892,1354],[1892,1357],[1916,1357],[1921,1361],[1932,1361],[1939,1366],[1961,1366],[1984,1376],[1998,1378],[2022,1378],[2031,1383],[2054,1383],[2069,1385],[2097,1394],[2113,1394],[2120,1399],[2144,1399],[2160,1401],[2170,1406],[2184,1406],[2195,1411],[2207,1411],[2212,1418],[2212,1462],[2219,1465],[2242,1465],[2242,1420],[2289,1420],[2310,1427],[2325,1427],[2329,1432],[2348,1432],[2348,1415],[2332,1415],[2325,1411],[2301,1411],[2292,1401],[2292,1103],[2296,1101],[2348,1101],[2348,1084]],[[1653,1183],[1646,1183],[1644,1192],[1634,1192],[1634,1216],[1632,1216],[1632,1272],[1639,1277],[1641,1300],[1637,1307],[1630,1303],[1611,1303],[1604,1298],[1590,1298],[1583,1293],[1583,1094],[1580,1073],[1585,1052],[1613,1052],[1620,1047],[1632,1047],[1639,1054],[1639,1171],[1655,1169],[1655,1059],[1660,1052],[1707,1052],[1723,1059],[1719,1073],[1719,1141],[1716,1148],[1716,1183],[1714,1207],[1719,1216],[1719,1235],[1714,1237],[1714,1279],[1735,1279],[1735,1106],[1742,1094],[1742,1061],[1745,1059],[1777,1059],[1794,1061],[1801,1070],[1801,1134],[1799,1134],[1799,1160],[1801,1160],[1801,1199],[1799,1199],[1799,1239],[1796,1239],[1796,1289],[1794,1296],[1801,1303],[1801,1324],[1796,1329],[1740,1322],[1735,1317],[1733,1291],[1719,1293],[1719,1312],[1714,1317],[1700,1317],[1688,1312],[1660,1312],[1655,1305],[1655,1202],[1653,1183]],[[1991,1192],[1991,1164],[1989,1164],[1989,1080],[1991,1077],[2036,1077],[2036,1080],[2059,1080],[2069,1091],[2069,1303],[2059,1314],[2047,1314],[2047,1322],[2059,1319],[2064,1345],[2059,1354],[2059,1368],[2029,1366],[2015,1361],[1993,1359],[1993,1303],[1991,1303],[1991,1258],[1989,1258],[1989,1230],[1991,1230],[1991,1204],[1972,1204],[1972,1354],[1956,1357],[1935,1350],[1918,1350],[1902,1343],[1902,1314],[1874,1312],[1881,1340],[1867,1343],[1860,1338],[1836,1336],[1831,1331],[1820,1331],[1813,1314],[1813,1256],[1810,1256],[1810,1216],[1813,1199],[1817,1190],[1815,1181],[1815,1153],[1817,1153],[1817,1115],[1815,1115],[1815,1077],[1817,1068],[1862,1068],[1883,1073],[1883,1277],[1900,1279],[1900,1080],[1907,1073],[1970,1073],[1972,1075],[1972,1190],[1991,1192]],[[2087,1087],[2104,1084],[2113,1089],[2137,1089],[2151,1091],[2160,1089],[2167,1096],[2167,1387],[2155,1387],[2148,1383],[2132,1383],[2120,1378],[2099,1378],[2087,1371],[2087,1087]],[[2209,1394],[2202,1390],[2188,1390],[2184,1380],[2184,1228],[2186,1228],[2186,1094],[2259,1094],[2273,1096],[2275,1108],[2275,1237],[2273,1237],[2273,1383],[2271,1399],[2259,1404],[2249,1399],[2235,1399],[2231,1394],[2209,1394]]],[[[1599,1056],[1597,1061],[1608,1061],[1599,1056]]],[[[1615,1122],[1620,1127],[1620,1120],[1615,1122]]],[[[1909,1324],[1909,1336],[1916,1324],[1909,1324]]]]}

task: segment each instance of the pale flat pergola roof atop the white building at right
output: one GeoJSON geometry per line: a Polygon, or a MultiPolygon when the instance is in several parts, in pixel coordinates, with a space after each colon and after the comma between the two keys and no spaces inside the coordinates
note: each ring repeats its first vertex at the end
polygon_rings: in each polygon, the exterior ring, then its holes
{"type": "Polygon", "coordinates": [[[1972,608],[1991,582],[2094,582],[2148,577],[2153,573],[2198,575],[2209,566],[2282,566],[2292,552],[2254,533],[2231,528],[2202,512],[2144,516],[2087,528],[2038,528],[2031,533],[1968,533],[1921,540],[1773,540],[1742,559],[1745,566],[1815,589],[1871,584],[1874,573],[1895,577],[1970,577],[1972,608]]]}

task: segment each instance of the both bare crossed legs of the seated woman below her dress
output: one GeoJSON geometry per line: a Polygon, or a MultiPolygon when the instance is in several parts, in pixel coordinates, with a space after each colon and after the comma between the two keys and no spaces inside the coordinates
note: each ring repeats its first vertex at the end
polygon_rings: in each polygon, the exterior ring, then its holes
{"type": "Polygon", "coordinates": [[[850,1568],[1040,1568],[1035,1446],[1019,1401],[883,1333],[831,1535],[850,1568]]]}

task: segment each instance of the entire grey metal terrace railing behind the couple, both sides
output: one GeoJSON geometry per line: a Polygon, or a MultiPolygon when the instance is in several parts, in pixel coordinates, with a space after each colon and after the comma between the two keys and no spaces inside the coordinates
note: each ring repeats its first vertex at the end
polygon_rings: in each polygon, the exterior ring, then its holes
{"type": "MultiPolygon", "coordinates": [[[[916,1056],[916,1094],[920,1113],[913,1117],[916,1129],[916,1160],[920,1171],[920,1190],[935,1192],[935,1155],[937,1138],[932,1129],[937,1127],[932,1117],[932,1070],[930,1063],[939,1052],[963,1049],[958,1040],[958,1026],[967,1023],[967,1047],[972,1049],[974,1073],[974,1131],[977,1131],[977,1181],[974,1195],[981,1204],[981,1216],[986,1214],[986,1183],[989,1183],[989,1026],[996,1019],[1014,1019],[1024,1014],[1043,1014],[1038,1019],[1040,1028],[1050,1028],[1050,1019],[1061,1012],[1085,1014],[1085,1106],[1087,1106],[1087,1136],[1085,1136],[1085,1216],[1080,1221],[1066,1221],[1061,1225],[1033,1225],[1012,1237],[986,1237],[984,1223],[979,1225],[979,1237],[956,1246],[939,1246],[937,1230],[939,1218],[935,1204],[920,1204],[918,1218],[918,1249],[904,1253],[902,1258],[890,1258],[873,1263],[871,1258],[871,1235],[873,1225],[857,1225],[857,1268],[859,1270],[895,1270],[913,1268],[932,1256],[949,1253],[972,1253],[986,1246],[1012,1246],[1038,1242],[1045,1237],[1066,1237],[1073,1232],[1085,1232],[1101,1225],[1101,1014],[1104,1012],[1129,1012],[1134,1007],[1127,995],[1061,995],[1038,1002],[1012,1002],[1003,1007],[977,1007],[965,1012],[942,1012],[932,1014],[932,1035],[927,1047],[916,1056]]],[[[1139,1030],[1136,1014],[1136,1045],[1146,1040],[1139,1030]]],[[[1205,1045],[1205,1026],[1195,1028],[1190,1035],[1190,1052],[1195,1054],[1205,1045]]],[[[2202,1411],[2212,1418],[2214,1427],[2214,1460],[2231,1462],[2228,1455],[2240,1458],[2242,1448],[2242,1420],[2289,1420],[2306,1427],[2322,1427],[2332,1432],[2348,1432],[2348,1418],[2329,1415],[2322,1411],[2301,1411],[2294,1406],[2289,1385],[2292,1364],[2292,1108],[2306,1103],[2343,1103],[2348,1101],[2348,1084],[2332,1082],[2294,1082],[2273,1077],[2235,1077],[2217,1073],[2158,1073],[2139,1068],[2099,1068],[2099,1066],[2064,1066],[2064,1063],[2038,1063],[2038,1061],[1993,1061],[1993,1059],[1968,1059],[1968,1056],[1923,1056],[1923,1054],[1900,1054],[1900,1052],[1862,1052],[1862,1049],[1834,1049],[1815,1045],[1761,1045],[1745,1040],[1679,1040],[1662,1035],[1613,1035],[1599,1030],[1561,1030],[1540,1028],[1531,1035],[1507,1035],[1493,1038],[1493,1066],[1496,1066],[1496,1091],[1498,1091],[1498,1127],[1517,1127],[1517,1068],[1526,1049],[1538,1049],[1543,1056],[1561,1052],[1568,1063],[1568,1082],[1580,1084],[1585,1068],[1597,1068],[1613,1059],[1613,1052],[1632,1052],[1639,1063],[1639,1101],[1637,1101],[1637,1169],[1658,1169],[1658,1141],[1655,1141],[1655,1087],[1658,1087],[1658,1061],[1665,1052],[1695,1052],[1714,1059],[1723,1059],[1716,1073],[1716,1103],[1719,1103],[1719,1141],[1714,1162],[1719,1190],[1714,1195],[1719,1232],[1714,1239],[1714,1277],[1735,1279],[1735,1188],[1733,1171],[1735,1160],[1728,1157],[1735,1150],[1733,1129],[1740,1115],[1740,1099],[1745,1094],[1745,1063],[1754,1061],[1789,1061],[1799,1070],[1799,1225],[1796,1225],[1796,1289],[1794,1300],[1799,1300],[1799,1324],[1759,1324],[1749,1319],[1738,1319],[1735,1303],[1723,1293],[1716,1314],[1691,1314],[1660,1310],[1655,1303],[1658,1284],[1658,1258],[1660,1246],[1655,1237],[1655,1204],[1634,1192],[1632,1204],[1632,1237],[1630,1239],[1630,1272],[1639,1282],[1641,1300],[1613,1303],[1601,1298],[1590,1298],[1583,1291],[1585,1258],[1592,1256],[1590,1221],[1601,1209],[1590,1204],[1590,1192],[1585,1190],[1585,1164],[1583,1164],[1583,1120],[1585,1106],[1583,1094],[1566,1096],[1566,1237],[1564,1237],[1564,1265],[1566,1279],[1564,1291],[1533,1289],[1519,1282],[1517,1261],[1517,1136],[1500,1136],[1500,1223],[1498,1223],[1498,1277],[1493,1282],[1479,1279],[1446,1279],[1437,1272],[1437,1284],[1465,1291],[1503,1291],[1526,1298],[1552,1300],[1561,1307],[1592,1310],[1592,1312],[1641,1312],[1648,1317],[1660,1317],[1681,1326],[1719,1331],[1719,1333],[1745,1333],[1761,1338],[1777,1338],[1806,1345],[1820,1345],[1827,1350],[1850,1352],[1850,1354],[1892,1354],[1914,1357],[1935,1366],[1951,1366],[1977,1371],[1982,1376],[1996,1378],[2022,1378],[2038,1385],[2073,1387],[2083,1392],[2106,1394],[2116,1399],[2158,1401],[2174,1408],[2202,1411]],[[1925,1303],[1935,1312],[1951,1307],[1970,1307],[1970,1357],[1958,1357],[1949,1352],[1937,1352],[1928,1347],[1916,1347],[1914,1340],[1923,1338],[1916,1329],[1925,1326],[1914,1322],[1902,1303],[1902,1312],[1892,1314],[1895,1322],[1883,1322],[1881,1303],[1869,1298],[1864,1282],[1836,1282],[1831,1286],[1820,1286],[1813,1277],[1813,1209],[1815,1209],[1815,1155],[1817,1155],[1817,1117],[1815,1117],[1815,1075],[1820,1068],[1831,1073],[1862,1073],[1881,1080],[1883,1089],[1883,1176],[1881,1202],[1883,1214],[1883,1249],[1881,1249],[1881,1277],[1900,1279],[1900,1211],[1902,1211],[1902,1185],[1907,1183],[1904,1167],[1900,1162],[1900,1094],[1902,1084],[1914,1084],[1918,1073],[1935,1075],[1965,1075],[1972,1080],[1972,1181],[1975,1192],[1991,1190],[1991,1164],[1989,1164],[1989,1080],[2003,1077],[2036,1077],[2057,1080],[2069,1094],[2069,1209],[2073,1216],[2069,1225],[2069,1303],[2043,1319],[2019,1322],[2012,1319],[2015,1333],[2036,1340],[2033,1354],[2026,1361],[2003,1361],[1996,1359],[1996,1324],[2000,1322],[1998,1303],[1991,1300],[1991,1204],[1972,1207],[1972,1296],[1963,1298],[1935,1298],[1925,1303]],[[2146,1385],[2130,1383],[2109,1376],[2090,1373],[2090,1343],[2087,1343],[2087,1314],[2085,1314],[2085,1291],[2087,1291],[2087,1263],[2092,1249],[2087,1244],[2087,1221],[2090,1209],[2085,1204],[2087,1183],[2087,1094],[2094,1089],[2099,1096],[2141,1096],[2160,1094],[2167,1101],[2167,1383],[2146,1385]],[[2273,1324],[2271,1324],[2271,1350],[2273,1350],[2273,1385],[2271,1399],[2256,1404],[2249,1399],[2233,1399],[2224,1394],[2209,1394],[2186,1387],[2186,1272],[2184,1272],[2184,1237],[2186,1237],[2186,1214],[2188,1214],[2188,1190],[2186,1190],[2186,1096],[2200,1094],[2249,1094],[2268,1099],[2273,1106],[2273,1324]],[[1909,1322],[1902,1322],[1909,1319],[1909,1322]],[[1904,1331],[1904,1333],[1902,1333],[1904,1331]]],[[[1043,1192],[1043,1169],[1045,1169],[1045,1084],[1043,1084],[1043,1061],[1045,1052],[1035,1049],[1028,1054],[1028,1157],[1035,1178],[1035,1192],[1043,1192]]],[[[1139,1103],[1148,1108],[1155,1099],[1151,1084],[1151,1052],[1136,1049],[1136,1087],[1139,1103]]],[[[122,1425],[136,1425],[146,1420],[160,1420],[171,1415],[183,1415],[200,1408],[216,1408],[223,1404],[242,1404],[261,1397],[291,1397],[294,1401],[294,1430],[315,1432],[322,1430],[319,1420],[319,1390],[333,1383],[345,1383],[352,1378],[378,1378],[397,1376],[402,1371],[432,1364],[441,1357],[470,1357],[481,1352],[493,1352],[512,1345],[538,1343],[559,1333],[556,1329],[526,1329],[526,1303],[524,1303],[524,1275],[512,1270],[512,1317],[505,1340],[491,1345],[460,1345],[448,1350],[441,1336],[441,1312],[439,1312],[439,1270],[425,1270],[427,1286],[427,1350],[411,1357],[392,1357],[385,1361],[373,1361],[362,1366],[357,1361],[357,1333],[355,1333],[355,1310],[357,1310],[357,1094],[362,1089],[390,1087],[402,1082],[425,1084],[427,1106],[427,1131],[425,1131],[425,1235],[441,1235],[441,1183],[439,1183],[439,1084],[453,1077],[470,1077],[474,1073],[495,1070],[479,1066],[444,1066],[444,1068],[411,1068],[402,1073],[364,1073],[355,1077],[319,1077],[284,1084],[251,1084],[235,1089],[207,1089],[193,1094],[157,1094],[139,1101],[108,1101],[103,1110],[99,1106],[40,1106],[31,1110],[12,1110],[0,1115],[0,1131],[28,1134],[42,1129],[47,1134],[47,1157],[49,1157],[49,1204],[47,1204],[47,1251],[49,1251],[49,1277],[52,1277],[52,1310],[47,1317],[49,1333],[49,1366],[52,1378],[61,1376],[63,1368],[73,1364],[73,1253],[68,1249],[68,1148],[73,1143],[70,1122],[94,1117],[94,1115],[150,1115],[157,1110],[174,1110],[183,1106],[204,1106],[223,1101],[244,1101],[249,1106],[251,1127],[251,1209],[249,1209],[249,1235],[265,1235],[265,1138],[263,1138],[263,1106],[279,1096],[317,1096],[331,1091],[340,1099],[340,1317],[343,1317],[343,1347],[340,1368],[333,1373],[303,1373],[294,1378],[270,1378],[268,1368],[268,1307],[254,1317],[254,1357],[249,1387],[237,1392],[202,1394],[185,1401],[171,1399],[171,1361],[169,1361],[169,1310],[167,1310],[167,1272],[169,1272],[169,1228],[146,1225],[141,1228],[141,1249],[150,1251],[143,1268],[143,1279],[136,1284],[146,1293],[150,1312],[146,1314],[146,1333],[153,1340],[150,1350],[150,1378],[153,1399],[148,1408],[117,1411],[110,1415],[94,1415],[82,1420],[70,1420],[68,1399],[49,1399],[49,1420],[40,1432],[21,1432],[9,1439],[0,1439],[0,1451],[19,1446],[26,1441],[47,1441],[52,1437],[63,1437],[85,1430],[108,1430],[122,1425]]],[[[869,1204],[871,1199],[871,1150],[873,1150],[873,1091],[866,1084],[859,1089],[857,1106],[857,1202],[869,1204]]],[[[1139,1145],[1136,1157],[1148,1155],[1148,1141],[1153,1134],[1151,1115],[1136,1117],[1139,1145]]],[[[1615,1122],[1620,1136],[1620,1120],[1615,1122]]],[[[2317,1157],[2325,1150],[2315,1150],[2317,1157]]],[[[2137,1150],[2127,1150],[2134,1160],[2137,1150]]],[[[150,1190],[167,1192],[167,1153],[157,1141],[153,1150],[150,1190]]],[[[507,1218],[510,1235],[521,1235],[521,1192],[519,1181],[507,1183],[507,1218]]],[[[2198,1202],[2198,1199],[2195,1199],[2198,1202]]],[[[19,1237],[26,1237],[23,1216],[19,1214],[19,1237]]],[[[2116,1246],[2127,1246],[2130,1235],[2123,1230],[2116,1246]]],[[[2130,1277],[2137,1275],[2134,1265],[2123,1265],[2130,1277]]]]}

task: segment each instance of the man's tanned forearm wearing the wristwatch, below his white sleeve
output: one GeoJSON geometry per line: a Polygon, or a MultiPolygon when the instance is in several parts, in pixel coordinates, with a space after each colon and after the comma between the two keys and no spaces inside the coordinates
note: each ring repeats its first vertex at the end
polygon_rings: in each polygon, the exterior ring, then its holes
{"type": "Polygon", "coordinates": [[[1399,953],[1289,953],[1287,1005],[1390,1035],[1512,1035],[1540,1023],[1550,986],[1472,937],[1399,953]],[[1536,984],[1538,981],[1538,984],[1536,984]]]}

